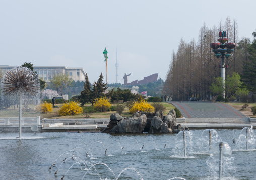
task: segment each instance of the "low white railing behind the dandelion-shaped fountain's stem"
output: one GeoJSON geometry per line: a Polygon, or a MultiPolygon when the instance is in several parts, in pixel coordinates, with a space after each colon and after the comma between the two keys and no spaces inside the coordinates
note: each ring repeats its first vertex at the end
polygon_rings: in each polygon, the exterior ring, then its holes
{"type": "MultiPolygon", "coordinates": [[[[21,118],[22,125],[40,125],[40,116],[21,118]]],[[[19,125],[19,117],[0,117],[0,125],[19,125]]]]}

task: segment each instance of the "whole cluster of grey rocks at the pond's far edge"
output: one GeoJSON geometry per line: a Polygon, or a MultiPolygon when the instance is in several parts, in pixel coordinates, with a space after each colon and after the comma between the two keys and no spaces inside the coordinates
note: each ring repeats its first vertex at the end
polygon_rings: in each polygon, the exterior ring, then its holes
{"type": "Polygon", "coordinates": [[[175,110],[171,110],[166,116],[163,111],[156,113],[134,113],[131,118],[125,118],[117,114],[111,114],[107,128],[102,132],[106,133],[178,133],[182,130],[189,130],[188,127],[181,127],[176,124],[175,110]]]}

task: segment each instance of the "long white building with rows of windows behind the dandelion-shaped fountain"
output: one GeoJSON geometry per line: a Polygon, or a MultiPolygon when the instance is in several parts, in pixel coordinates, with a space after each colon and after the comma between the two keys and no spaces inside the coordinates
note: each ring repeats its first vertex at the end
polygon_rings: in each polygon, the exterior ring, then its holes
{"type": "MultiPolygon", "coordinates": [[[[0,66],[0,70],[5,73],[8,70],[18,66],[0,66]]],[[[39,79],[50,82],[51,77],[57,73],[66,73],[74,81],[84,81],[85,71],[83,68],[67,68],[66,66],[33,66],[39,79]]]]}

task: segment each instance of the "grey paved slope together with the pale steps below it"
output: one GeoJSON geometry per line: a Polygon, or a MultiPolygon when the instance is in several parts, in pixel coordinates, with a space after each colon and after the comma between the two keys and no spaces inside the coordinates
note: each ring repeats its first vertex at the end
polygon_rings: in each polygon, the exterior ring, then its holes
{"type": "Polygon", "coordinates": [[[178,108],[184,118],[177,123],[189,129],[233,129],[256,126],[256,118],[248,118],[223,103],[168,102],[178,108]]]}

